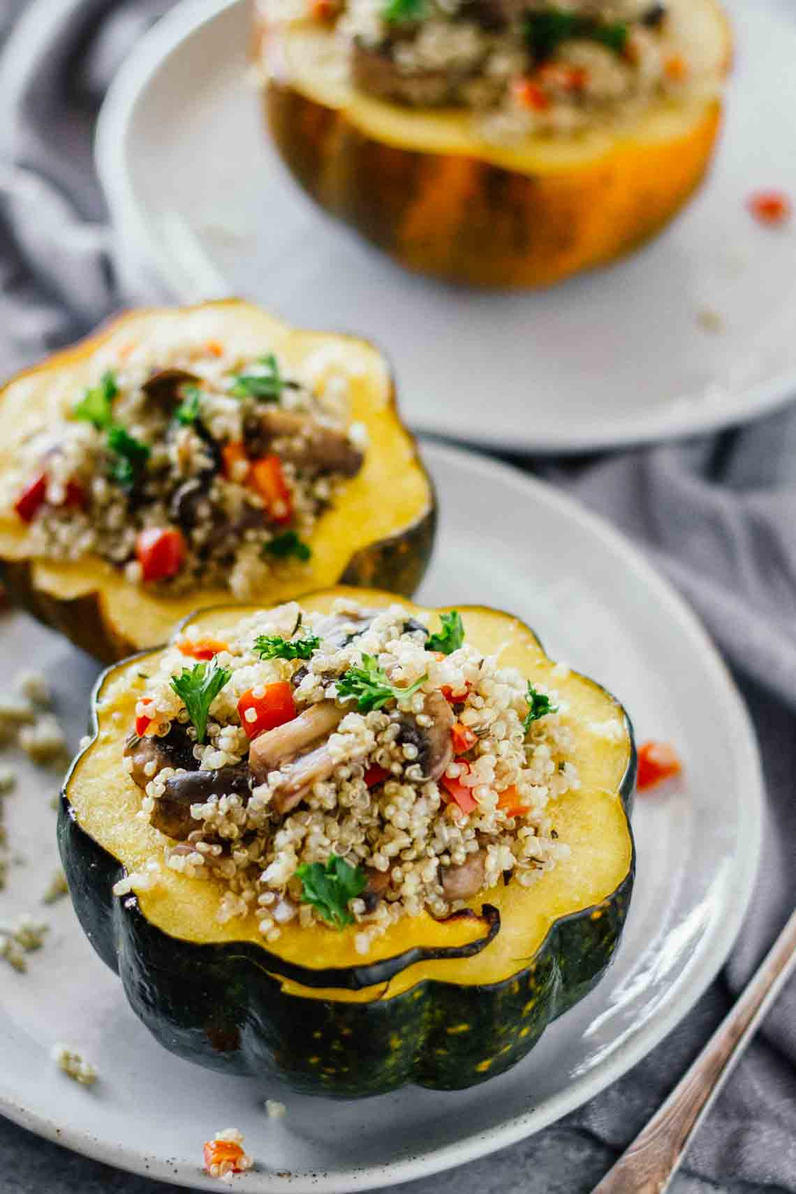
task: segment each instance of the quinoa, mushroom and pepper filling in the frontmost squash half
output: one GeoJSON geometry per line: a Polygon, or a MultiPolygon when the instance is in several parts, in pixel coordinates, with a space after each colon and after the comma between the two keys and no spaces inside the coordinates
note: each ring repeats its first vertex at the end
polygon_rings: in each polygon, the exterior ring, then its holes
{"type": "Polygon", "coordinates": [[[189,627],[144,677],[124,751],[138,816],[165,866],[222,881],[220,921],[253,912],[269,942],[356,924],[366,954],[401,917],[529,886],[569,853],[548,807],[580,787],[563,703],[485,658],[456,611],[427,622],[291,602],[218,639],[189,627]]]}

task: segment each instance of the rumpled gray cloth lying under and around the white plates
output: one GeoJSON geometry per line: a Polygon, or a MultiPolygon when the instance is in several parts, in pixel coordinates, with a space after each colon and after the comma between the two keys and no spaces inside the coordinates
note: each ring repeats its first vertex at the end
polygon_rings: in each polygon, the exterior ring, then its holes
{"type": "MultiPolygon", "coordinates": [[[[0,60],[0,344],[4,371],[88,331],[121,303],[90,133],[127,49],[169,0],[4,0],[24,37],[0,60]],[[32,11],[31,11],[32,10],[32,11]]],[[[518,461],[622,527],[704,618],[760,737],[764,863],[728,966],[630,1073],[553,1128],[431,1180],[419,1194],[586,1192],[699,1051],[796,901],[796,413],[696,442],[580,462],[518,461]]],[[[0,1120],[0,1189],[154,1194],[0,1120]]],[[[796,985],[780,996],[689,1152],[677,1189],[796,1194],[796,985]]],[[[629,1192],[630,1194],[630,1192],[629,1192]]]]}

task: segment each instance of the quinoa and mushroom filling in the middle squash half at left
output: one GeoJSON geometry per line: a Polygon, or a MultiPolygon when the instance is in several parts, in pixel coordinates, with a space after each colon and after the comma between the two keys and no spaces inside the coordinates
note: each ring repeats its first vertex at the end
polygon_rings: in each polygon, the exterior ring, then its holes
{"type": "Polygon", "coordinates": [[[88,388],[24,445],[2,503],[49,559],[99,555],[165,593],[251,598],[300,571],[319,515],[362,468],[341,377],[290,376],[218,341],[95,353],[88,388]]]}

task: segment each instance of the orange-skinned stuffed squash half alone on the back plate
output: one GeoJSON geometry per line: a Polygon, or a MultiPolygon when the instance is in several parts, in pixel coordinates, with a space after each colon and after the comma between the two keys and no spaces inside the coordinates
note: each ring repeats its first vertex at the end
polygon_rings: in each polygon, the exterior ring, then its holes
{"type": "Polygon", "coordinates": [[[716,0],[257,0],[283,160],[399,264],[538,287],[659,232],[710,162],[716,0]]]}

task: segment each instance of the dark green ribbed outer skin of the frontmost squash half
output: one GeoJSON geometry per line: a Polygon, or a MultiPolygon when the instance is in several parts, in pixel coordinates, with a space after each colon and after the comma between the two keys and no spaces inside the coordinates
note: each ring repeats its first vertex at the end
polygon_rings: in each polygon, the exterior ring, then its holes
{"type": "Polygon", "coordinates": [[[79,825],[69,773],[57,833],[75,912],[99,956],[119,974],[136,1016],[178,1057],[338,1098],[407,1083],[433,1090],[475,1085],[526,1057],[545,1027],[599,983],[619,943],[636,864],[636,750],[625,719],[631,757],[619,796],[631,837],[628,874],[601,904],[556,921],[527,965],[494,985],[426,979],[369,1003],[302,998],[282,991],[265,968],[270,955],[252,942],[203,946],[167,935],[147,921],[134,894],[112,894],[124,868],[79,825]]]}

